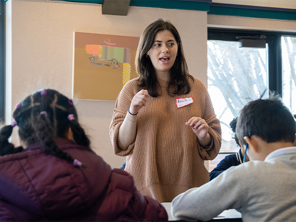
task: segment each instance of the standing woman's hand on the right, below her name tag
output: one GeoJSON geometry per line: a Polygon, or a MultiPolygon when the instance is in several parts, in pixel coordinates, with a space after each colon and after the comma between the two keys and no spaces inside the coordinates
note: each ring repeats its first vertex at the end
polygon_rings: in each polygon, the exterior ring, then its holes
{"type": "Polygon", "coordinates": [[[205,147],[211,143],[212,138],[208,133],[209,125],[203,118],[194,116],[190,118],[185,124],[192,128],[201,146],[205,147]]]}

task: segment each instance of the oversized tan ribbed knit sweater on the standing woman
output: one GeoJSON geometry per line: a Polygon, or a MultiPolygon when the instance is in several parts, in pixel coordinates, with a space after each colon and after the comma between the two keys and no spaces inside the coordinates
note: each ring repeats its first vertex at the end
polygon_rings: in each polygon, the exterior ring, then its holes
{"type": "Polygon", "coordinates": [[[198,79],[189,82],[188,94],[171,97],[167,82],[159,80],[161,95],[148,97],[139,111],[136,140],[126,150],[117,146],[117,136],[134,95],[141,90],[138,78],[125,84],[115,103],[110,125],[114,153],[127,156],[125,170],[134,177],[137,189],[160,202],[171,202],[187,189],[209,182],[204,160],[214,159],[221,147],[220,121],[208,91],[198,79]],[[192,97],[194,102],[177,109],[176,98],[184,97],[192,97]],[[208,123],[210,148],[201,147],[191,127],[185,125],[193,116],[208,123]]]}

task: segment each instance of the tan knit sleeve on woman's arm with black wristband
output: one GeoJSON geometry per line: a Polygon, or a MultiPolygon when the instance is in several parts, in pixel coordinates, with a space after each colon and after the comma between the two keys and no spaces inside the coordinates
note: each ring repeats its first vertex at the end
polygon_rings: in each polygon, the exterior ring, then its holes
{"type": "Polygon", "coordinates": [[[135,147],[135,141],[131,145],[129,145],[127,149],[121,149],[117,144],[119,128],[123,123],[126,113],[130,108],[132,99],[136,94],[134,91],[137,91],[137,89],[131,84],[131,81],[129,81],[122,88],[115,102],[115,109],[113,111],[113,116],[110,124],[110,138],[113,146],[113,151],[115,155],[118,156],[127,156],[132,154],[133,148],[135,147]]]}

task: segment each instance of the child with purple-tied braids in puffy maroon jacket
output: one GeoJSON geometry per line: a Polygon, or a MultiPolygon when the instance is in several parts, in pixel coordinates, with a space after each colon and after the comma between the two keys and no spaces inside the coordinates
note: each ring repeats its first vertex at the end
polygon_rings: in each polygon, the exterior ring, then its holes
{"type": "Polygon", "coordinates": [[[131,175],[89,148],[72,100],[38,91],[13,118],[0,129],[0,221],[167,221],[131,175]],[[8,142],[16,125],[17,148],[8,142]]]}

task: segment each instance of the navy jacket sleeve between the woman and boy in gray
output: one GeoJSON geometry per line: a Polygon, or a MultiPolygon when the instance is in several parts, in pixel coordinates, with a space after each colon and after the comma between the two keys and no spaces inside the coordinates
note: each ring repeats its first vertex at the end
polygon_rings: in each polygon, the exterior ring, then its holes
{"type": "Polygon", "coordinates": [[[241,149],[237,153],[225,156],[225,158],[220,161],[217,167],[215,167],[214,170],[210,172],[210,181],[218,177],[224,170],[241,164],[243,159],[244,157],[241,153],[241,149]]]}

